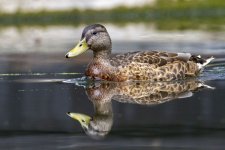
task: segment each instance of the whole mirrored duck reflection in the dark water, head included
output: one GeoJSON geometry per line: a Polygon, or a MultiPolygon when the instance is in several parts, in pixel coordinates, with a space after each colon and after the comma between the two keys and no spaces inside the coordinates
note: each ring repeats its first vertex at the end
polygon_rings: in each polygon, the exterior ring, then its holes
{"type": "Polygon", "coordinates": [[[194,92],[212,87],[198,80],[174,82],[96,82],[86,86],[92,101],[93,117],[80,113],[68,115],[79,121],[85,133],[93,138],[103,138],[113,124],[112,100],[140,105],[156,105],[178,98],[191,97],[194,92]]]}

